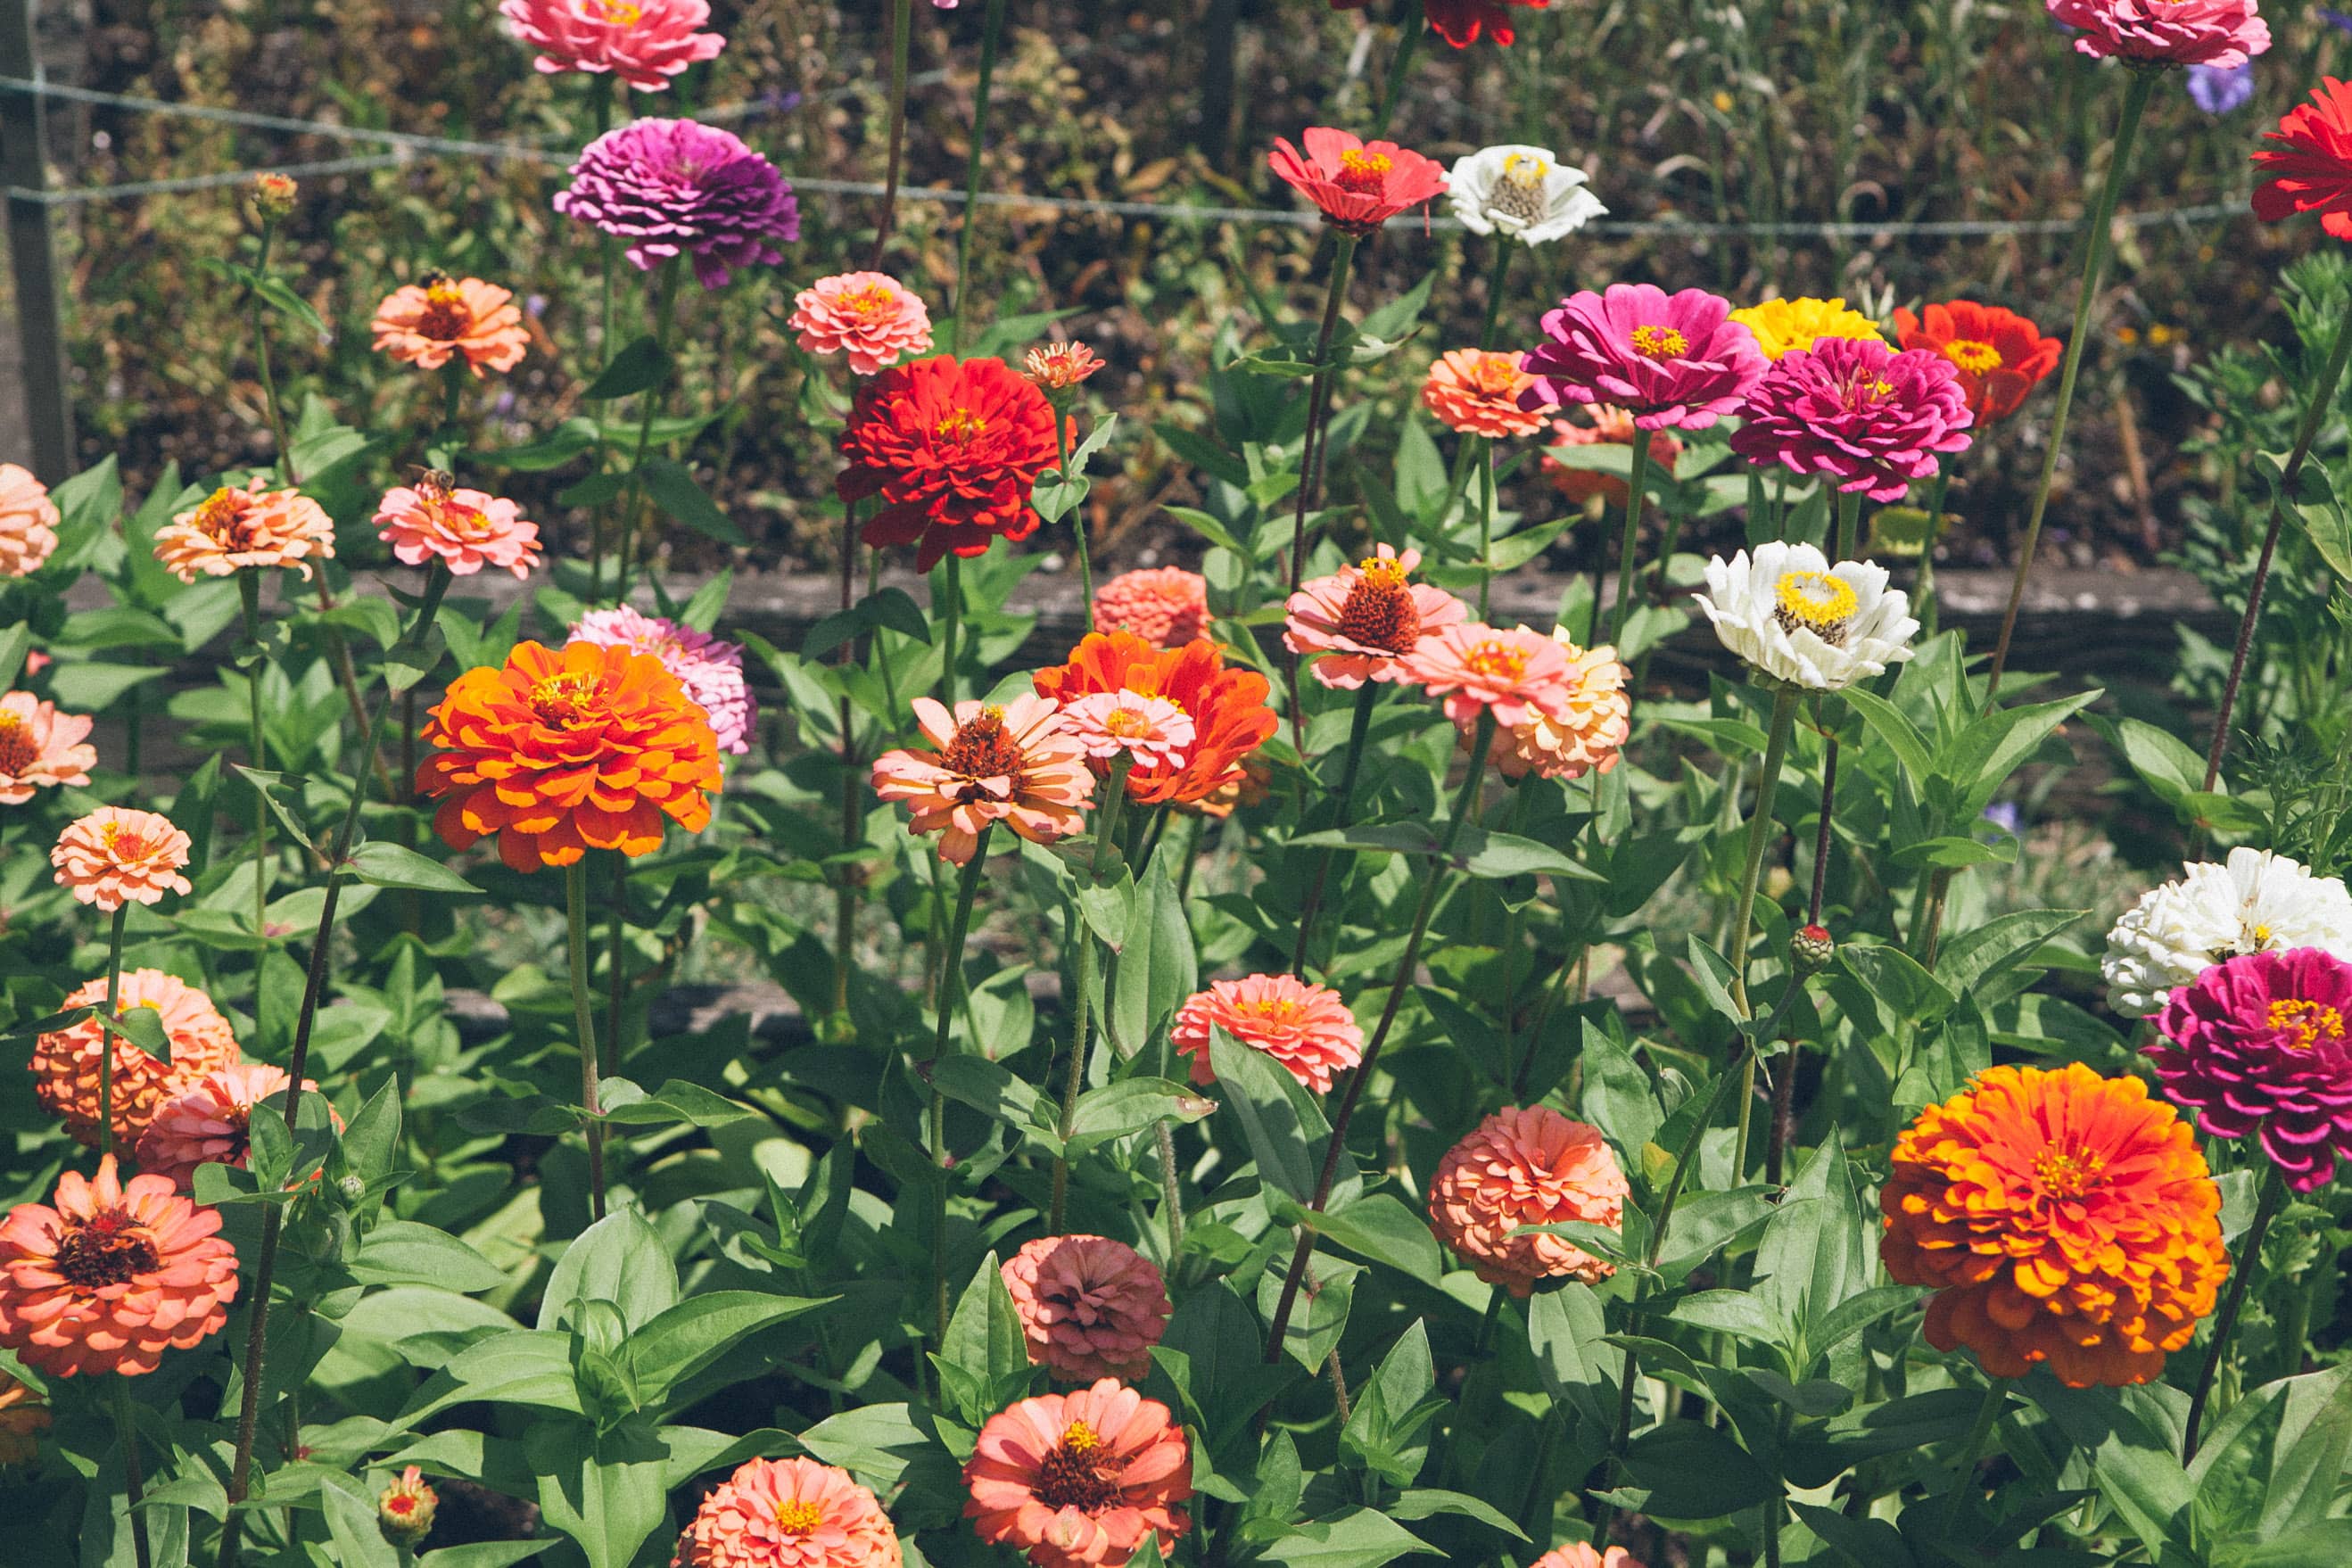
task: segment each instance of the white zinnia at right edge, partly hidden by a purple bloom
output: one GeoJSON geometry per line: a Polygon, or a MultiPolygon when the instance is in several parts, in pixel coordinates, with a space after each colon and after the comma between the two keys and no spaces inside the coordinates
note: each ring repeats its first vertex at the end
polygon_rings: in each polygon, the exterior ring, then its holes
{"type": "Polygon", "coordinates": [[[2286,947],[2324,947],[2352,961],[2352,893],[2300,860],[2232,849],[2227,863],[2197,860],[2180,882],[2143,893],[2107,933],[2098,971],[2107,1004],[2145,1018],[2213,964],[2286,947]]]}

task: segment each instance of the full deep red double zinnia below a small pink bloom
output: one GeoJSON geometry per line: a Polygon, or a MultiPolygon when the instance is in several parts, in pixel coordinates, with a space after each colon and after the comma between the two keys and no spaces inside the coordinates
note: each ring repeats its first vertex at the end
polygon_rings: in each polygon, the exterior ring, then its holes
{"type": "Polygon", "coordinates": [[[936,355],[858,388],[842,430],[842,501],[882,496],[870,545],[915,545],[929,571],[948,550],[985,555],[1037,531],[1030,491],[1058,458],[1054,409],[1004,360],[936,355]]]}

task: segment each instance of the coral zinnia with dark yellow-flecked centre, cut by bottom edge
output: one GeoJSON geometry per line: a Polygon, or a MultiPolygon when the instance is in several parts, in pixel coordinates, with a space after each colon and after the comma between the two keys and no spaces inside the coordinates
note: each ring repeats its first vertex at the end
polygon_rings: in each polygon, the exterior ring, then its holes
{"type": "Polygon", "coordinates": [[[1167,1556],[1190,1528],[1192,1450],[1164,1403],[1103,1378],[990,1415],[964,1486],[983,1542],[1037,1568],[1124,1568],[1145,1535],[1167,1556]]]}

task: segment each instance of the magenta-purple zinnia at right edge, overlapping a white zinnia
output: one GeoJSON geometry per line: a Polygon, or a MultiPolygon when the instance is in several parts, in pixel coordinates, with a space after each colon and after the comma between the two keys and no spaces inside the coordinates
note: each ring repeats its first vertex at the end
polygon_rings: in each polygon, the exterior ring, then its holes
{"type": "Polygon", "coordinates": [[[2258,1135],[2296,1192],[2352,1159],[2352,964],[2319,947],[2225,959],[2173,990],[2157,1030],[2157,1079],[2206,1135],[2258,1135]]]}

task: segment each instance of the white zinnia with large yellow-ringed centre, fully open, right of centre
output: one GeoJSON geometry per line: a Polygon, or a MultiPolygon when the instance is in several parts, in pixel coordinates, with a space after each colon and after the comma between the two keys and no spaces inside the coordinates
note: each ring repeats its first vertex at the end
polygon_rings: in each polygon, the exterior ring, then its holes
{"type": "Polygon", "coordinates": [[[1708,562],[1698,607],[1726,649],[1762,675],[1842,691],[1910,658],[1910,597],[1877,562],[1830,564],[1813,545],[1766,543],[1708,562]]]}

